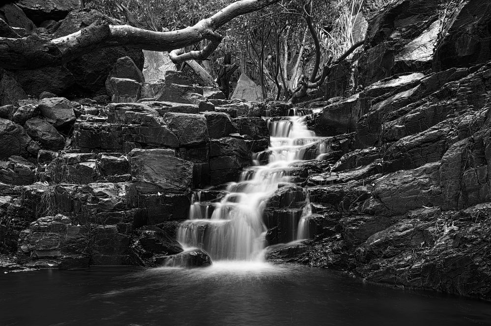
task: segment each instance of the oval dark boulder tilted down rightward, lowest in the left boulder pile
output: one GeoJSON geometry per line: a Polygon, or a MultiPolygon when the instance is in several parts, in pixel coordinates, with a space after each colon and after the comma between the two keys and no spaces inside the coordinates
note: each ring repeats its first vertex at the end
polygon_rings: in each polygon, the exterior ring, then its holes
{"type": "Polygon", "coordinates": [[[65,138],[50,123],[39,118],[26,121],[24,129],[32,139],[48,150],[60,150],[65,147],[65,138]]]}

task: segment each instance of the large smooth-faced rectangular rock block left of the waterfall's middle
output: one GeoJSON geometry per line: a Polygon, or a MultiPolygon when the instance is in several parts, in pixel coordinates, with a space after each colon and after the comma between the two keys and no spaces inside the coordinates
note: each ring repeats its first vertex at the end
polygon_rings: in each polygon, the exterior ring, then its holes
{"type": "Polygon", "coordinates": [[[176,158],[172,150],[134,149],[128,159],[139,191],[179,193],[191,188],[193,163],[176,158]]]}

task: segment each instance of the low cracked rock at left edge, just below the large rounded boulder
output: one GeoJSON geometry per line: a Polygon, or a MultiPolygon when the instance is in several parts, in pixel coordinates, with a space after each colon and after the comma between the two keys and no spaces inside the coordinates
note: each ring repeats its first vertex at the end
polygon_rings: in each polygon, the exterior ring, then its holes
{"type": "Polygon", "coordinates": [[[11,156],[0,161],[0,182],[10,185],[30,185],[35,182],[36,166],[19,157],[11,156]]]}

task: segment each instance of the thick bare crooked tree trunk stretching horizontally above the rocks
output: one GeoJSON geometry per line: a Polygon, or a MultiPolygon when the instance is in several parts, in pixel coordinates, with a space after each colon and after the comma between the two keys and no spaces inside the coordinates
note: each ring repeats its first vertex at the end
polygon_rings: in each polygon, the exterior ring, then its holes
{"type": "Polygon", "coordinates": [[[217,47],[222,36],[214,30],[237,16],[262,9],[278,0],[240,0],[231,3],[213,16],[192,27],[169,32],[156,32],[128,25],[92,24],[75,33],[56,39],[36,35],[23,38],[0,37],[0,67],[36,69],[58,66],[94,50],[128,46],[150,51],[171,51],[174,63],[190,59],[205,59],[217,47]],[[201,51],[184,53],[185,46],[211,42],[201,51]],[[181,49],[181,50],[179,50],[181,49]]]}

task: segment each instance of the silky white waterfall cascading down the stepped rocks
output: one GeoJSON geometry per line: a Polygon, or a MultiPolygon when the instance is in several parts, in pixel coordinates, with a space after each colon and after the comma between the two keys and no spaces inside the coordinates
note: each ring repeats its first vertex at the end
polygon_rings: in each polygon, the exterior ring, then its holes
{"type": "MultiPolygon", "coordinates": [[[[179,225],[177,240],[183,247],[199,247],[212,260],[261,260],[266,245],[266,227],[262,211],[267,198],[280,183],[289,183],[290,164],[304,160],[306,150],[319,155],[325,151],[322,138],[316,137],[305,124],[305,117],[265,118],[271,135],[269,163],[244,169],[238,183],[230,183],[220,202],[203,201],[201,191],[193,194],[189,219],[179,225]]],[[[310,153],[312,154],[312,153],[310,153]]],[[[310,207],[310,204],[307,205],[310,207]]],[[[304,209],[298,231],[293,237],[306,238],[304,209]]],[[[296,229],[296,227],[295,227],[296,229]]]]}

